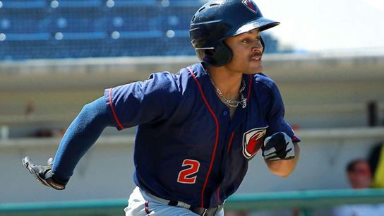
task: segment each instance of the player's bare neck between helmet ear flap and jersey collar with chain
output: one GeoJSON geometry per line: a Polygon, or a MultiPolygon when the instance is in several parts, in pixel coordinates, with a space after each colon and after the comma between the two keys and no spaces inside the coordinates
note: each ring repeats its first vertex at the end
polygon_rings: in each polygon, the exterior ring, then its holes
{"type": "Polygon", "coordinates": [[[229,73],[222,68],[208,66],[208,73],[212,82],[220,89],[224,97],[237,100],[241,85],[242,73],[229,73]]]}

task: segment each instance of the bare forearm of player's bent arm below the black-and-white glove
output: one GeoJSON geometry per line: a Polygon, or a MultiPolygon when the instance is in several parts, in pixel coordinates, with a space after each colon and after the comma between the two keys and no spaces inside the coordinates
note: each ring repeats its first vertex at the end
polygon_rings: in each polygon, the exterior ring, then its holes
{"type": "Polygon", "coordinates": [[[293,143],[293,147],[294,157],[282,160],[264,160],[272,174],[285,178],[294,171],[296,164],[299,161],[300,148],[297,143],[293,143]]]}

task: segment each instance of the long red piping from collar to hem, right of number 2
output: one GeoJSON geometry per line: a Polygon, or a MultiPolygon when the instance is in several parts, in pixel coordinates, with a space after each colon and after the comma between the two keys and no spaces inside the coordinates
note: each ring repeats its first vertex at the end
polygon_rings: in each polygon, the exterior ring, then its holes
{"type": "Polygon", "coordinates": [[[212,157],[211,157],[211,160],[210,160],[210,169],[208,169],[207,176],[205,176],[205,181],[204,181],[203,189],[201,190],[201,204],[200,204],[200,208],[204,208],[203,205],[204,205],[204,191],[205,191],[205,186],[207,186],[208,178],[209,178],[209,176],[210,176],[210,172],[212,171],[213,160],[215,160],[215,154],[216,154],[216,149],[217,149],[217,143],[219,143],[219,121],[217,121],[217,117],[216,117],[215,113],[214,113],[214,112],[212,111],[212,109],[210,108],[210,104],[208,104],[208,101],[207,101],[207,99],[206,99],[205,96],[204,96],[203,89],[201,88],[201,85],[200,85],[200,83],[198,82],[198,79],[196,78],[195,74],[193,74],[191,68],[189,68],[189,67],[187,67],[187,68],[188,68],[189,73],[191,73],[193,79],[196,81],[196,84],[198,85],[198,89],[200,90],[201,97],[203,97],[203,100],[204,100],[204,102],[205,102],[205,105],[207,105],[207,107],[208,107],[208,109],[209,109],[209,111],[210,111],[210,114],[212,114],[213,119],[215,119],[215,123],[216,123],[216,140],[215,140],[215,147],[213,148],[212,157]]]}

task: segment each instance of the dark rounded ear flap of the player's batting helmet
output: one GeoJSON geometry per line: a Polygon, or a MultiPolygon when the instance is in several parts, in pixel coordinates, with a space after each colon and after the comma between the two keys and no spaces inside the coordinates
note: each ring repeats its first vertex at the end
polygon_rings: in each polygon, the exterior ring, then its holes
{"type": "Polygon", "coordinates": [[[203,61],[214,67],[221,67],[232,59],[232,50],[227,44],[220,43],[215,49],[205,50],[203,61]]]}

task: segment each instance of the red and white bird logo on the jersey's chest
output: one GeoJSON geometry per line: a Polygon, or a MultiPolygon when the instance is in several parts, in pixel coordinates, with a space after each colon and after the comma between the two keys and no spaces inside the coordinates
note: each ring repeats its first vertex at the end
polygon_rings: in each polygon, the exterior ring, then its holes
{"type": "Polygon", "coordinates": [[[267,128],[253,128],[244,133],[243,136],[243,155],[246,159],[251,159],[256,155],[264,143],[264,136],[267,128]]]}

